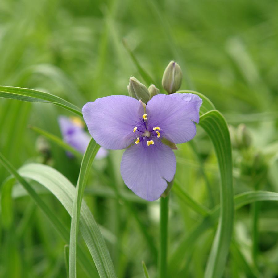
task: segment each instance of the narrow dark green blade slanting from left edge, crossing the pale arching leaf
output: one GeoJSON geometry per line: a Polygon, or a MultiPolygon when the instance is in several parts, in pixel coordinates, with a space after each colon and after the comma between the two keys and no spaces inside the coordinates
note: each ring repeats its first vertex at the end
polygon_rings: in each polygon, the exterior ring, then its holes
{"type": "MultiPolygon", "coordinates": [[[[62,223],[59,218],[56,217],[56,214],[54,214],[52,212],[52,210],[49,209],[49,207],[44,203],[44,201],[39,197],[39,195],[32,188],[32,186],[16,171],[16,169],[9,163],[8,160],[6,160],[6,158],[2,155],[2,153],[0,153],[0,162],[11,173],[11,175],[13,175],[15,177],[15,179],[18,180],[19,183],[26,189],[26,191],[29,193],[30,197],[35,201],[35,203],[39,206],[39,208],[44,212],[44,214],[46,215],[48,220],[52,223],[52,225],[57,230],[57,232],[60,234],[60,236],[64,239],[64,241],[69,242],[69,230],[66,228],[66,225],[64,223],[62,223]]],[[[34,164],[31,164],[31,165],[34,166],[34,164]]],[[[30,178],[32,178],[32,177],[30,177],[30,178]]],[[[65,180],[67,180],[67,179],[65,179],[65,180]]],[[[71,184],[69,181],[68,181],[68,183],[71,184]]],[[[73,187],[73,185],[72,185],[72,187],[73,187]]],[[[73,190],[74,190],[74,187],[73,187],[73,190]]],[[[57,195],[55,193],[57,194],[57,192],[55,192],[55,190],[54,190],[54,195],[57,197],[57,195]]],[[[90,277],[92,277],[92,276],[97,277],[96,269],[93,268],[92,263],[89,261],[89,259],[85,255],[84,251],[80,247],[78,247],[78,261],[90,277]]]]}

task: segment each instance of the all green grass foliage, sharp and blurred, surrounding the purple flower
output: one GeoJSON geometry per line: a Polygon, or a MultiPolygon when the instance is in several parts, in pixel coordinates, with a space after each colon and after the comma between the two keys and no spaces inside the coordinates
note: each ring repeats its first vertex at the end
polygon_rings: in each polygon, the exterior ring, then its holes
{"type": "Polygon", "coordinates": [[[0,23],[0,277],[278,276],[276,1],[4,0],[0,23]],[[165,93],[172,59],[203,105],[160,206],[57,117],[130,76],[165,93]]]}

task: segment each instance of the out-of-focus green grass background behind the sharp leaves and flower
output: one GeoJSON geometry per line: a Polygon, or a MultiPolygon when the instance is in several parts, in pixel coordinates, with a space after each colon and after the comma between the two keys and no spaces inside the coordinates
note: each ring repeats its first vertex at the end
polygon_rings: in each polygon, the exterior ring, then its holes
{"type": "MultiPolygon", "coordinates": [[[[0,85],[49,92],[79,107],[99,97],[127,94],[130,76],[143,79],[124,39],[162,92],[164,68],[175,60],[184,75],[181,89],[206,95],[228,124],[246,124],[252,143],[241,148],[234,145],[234,192],[277,192],[277,30],[275,0],[2,0],[0,85]]],[[[81,160],[69,159],[50,141],[46,155],[40,147],[43,139],[28,128],[33,125],[61,137],[57,123],[61,114],[69,115],[52,104],[0,99],[0,150],[17,168],[32,161],[45,163],[76,184],[81,160]]],[[[176,151],[174,189],[179,186],[212,208],[219,203],[214,151],[199,127],[192,144],[176,151]]],[[[159,203],[143,201],[125,187],[119,172],[121,155],[122,151],[111,151],[94,162],[85,198],[106,233],[118,277],[143,277],[142,260],[155,277],[156,252],[151,251],[144,231],[156,246],[159,203]],[[118,197],[115,187],[127,201],[118,197]]],[[[8,176],[0,166],[0,183],[8,176]]],[[[174,189],[170,257],[200,219],[174,189]]],[[[17,190],[12,224],[0,224],[0,276],[66,277],[65,243],[30,198],[17,190]]],[[[60,203],[51,194],[43,196],[70,226],[60,203]]],[[[262,202],[257,206],[255,247],[252,209],[247,205],[235,214],[233,241],[238,253],[229,256],[225,277],[250,277],[241,265],[241,255],[257,276],[278,277],[278,205],[262,202]]],[[[1,219],[5,222],[2,215],[1,219]]],[[[184,262],[172,277],[203,277],[214,232],[214,228],[205,231],[184,251],[184,262]]],[[[77,271],[77,277],[86,277],[80,267],[77,271]]]]}

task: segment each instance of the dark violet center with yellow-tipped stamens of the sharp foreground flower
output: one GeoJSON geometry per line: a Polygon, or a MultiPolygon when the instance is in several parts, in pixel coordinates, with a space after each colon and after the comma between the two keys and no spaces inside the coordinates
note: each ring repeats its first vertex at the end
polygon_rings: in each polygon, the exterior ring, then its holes
{"type": "Polygon", "coordinates": [[[143,114],[138,125],[133,128],[133,133],[137,135],[135,137],[135,145],[138,145],[140,142],[143,143],[144,146],[147,147],[154,145],[155,143],[160,141],[161,137],[161,128],[153,127],[150,123],[147,125],[147,114],[143,114]],[[151,127],[152,126],[152,127],[151,127]],[[146,139],[147,138],[147,139],[146,139]],[[145,140],[146,139],[146,140],[145,140]],[[159,139],[159,140],[157,140],[159,139]]]}

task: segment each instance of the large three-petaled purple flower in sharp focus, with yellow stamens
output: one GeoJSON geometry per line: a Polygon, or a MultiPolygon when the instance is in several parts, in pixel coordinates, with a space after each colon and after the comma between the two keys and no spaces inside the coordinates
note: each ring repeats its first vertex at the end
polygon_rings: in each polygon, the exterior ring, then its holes
{"type": "Polygon", "coordinates": [[[121,174],[136,195],[157,200],[176,172],[176,157],[163,143],[185,143],[196,134],[201,98],[194,94],[158,94],[144,106],[118,95],[98,98],[82,109],[90,134],[106,149],[127,148],[121,174]],[[194,121],[194,122],[193,122],[194,121]]]}

